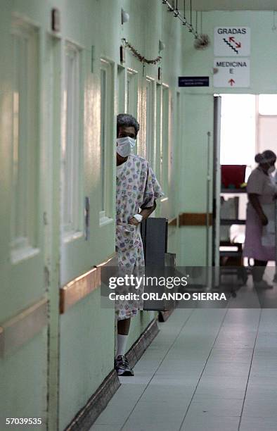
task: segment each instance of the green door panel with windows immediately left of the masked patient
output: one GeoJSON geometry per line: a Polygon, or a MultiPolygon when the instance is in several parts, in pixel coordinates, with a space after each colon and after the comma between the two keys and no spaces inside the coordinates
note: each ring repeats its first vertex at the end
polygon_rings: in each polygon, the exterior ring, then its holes
{"type": "MultiPolygon", "coordinates": [[[[62,8],[61,13],[67,10],[62,8]]],[[[117,84],[119,89],[124,88],[124,81],[117,82],[117,66],[110,60],[111,56],[100,50],[97,37],[101,29],[90,25],[89,16],[100,13],[100,6],[98,10],[96,4],[86,3],[85,8],[80,8],[77,2],[71,4],[70,13],[75,23],[85,23],[86,32],[80,31],[79,25],[68,25],[63,33],[62,288],[115,252],[115,94],[117,84]],[[91,43],[94,40],[92,73],[91,43]],[[75,67],[78,56],[79,69],[75,67]],[[79,90],[75,93],[73,87],[79,90]],[[72,108],[76,108],[75,111],[72,108]],[[75,128],[70,128],[73,125],[75,128]],[[84,223],[85,203],[89,212],[87,224],[84,223]]],[[[120,99],[120,106],[123,101],[120,99]]],[[[70,423],[112,370],[114,330],[114,310],[101,307],[99,288],[82,299],[78,296],[78,300],[60,315],[60,430],[70,423]]]]}

